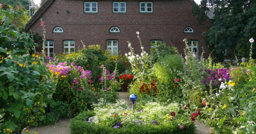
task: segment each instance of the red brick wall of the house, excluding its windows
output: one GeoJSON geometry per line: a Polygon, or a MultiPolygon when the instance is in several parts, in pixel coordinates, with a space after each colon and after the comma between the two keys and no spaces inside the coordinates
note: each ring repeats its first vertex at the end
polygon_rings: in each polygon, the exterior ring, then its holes
{"type": "MultiPolygon", "coordinates": [[[[87,0],[86,0],[87,1],[87,0]]],[[[121,0],[123,1],[123,0],[121,0]]],[[[106,49],[106,40],[118,40],[118,50],[121,54],[129,52],[127,41],[130,41],[135,53],[140,53],[140,44],[136,31],[140,32],[142,44],[147,52],[150,49],[150,40],[162,40],[162,43],[177,47],[183,53],[185,43],[182,41],[198,40],[198,56],[201,56],[204,47],[205,57],[210,52],[204,46],[202,33],[206,31],[211,22],[197,26],[196,17],[192,15],[193,4],[189,0],[161,0],[153,2],[153,13],[140,13],[139,3],[127,0],[126,13],[113,13],[113,1],[98,2],[98,13],[84,13],[85,1],[56,0],[53,5],[42,15],[46,28],[46,40],[54,40],[54,52],[63,52],[63,40],[75,40],[75,50],[86,46],[99,44],[101,49],[106,49]],[[67,13],[66,11],[69,11],[67,13]],[[57,13],[58,12],[58,13],[57,13]],[[53,33],[53,29],[60,26],[63,33],[53,33]],[[112,26],[117,26],[120,33],[109,33],[112,26]],[[183,33],[187,27],[194,29],[194,33],[183,33]]],[[[88,1],[94,2],[94,1],[88,1]]],[[[118,1],[119,2],[119,1],[118,1]]],[[[148,2],[148,1],[147,1],[148,2]]],[[[31,30],[42,35],[43,29],[38,20],[31,30]]],[[[41,51],[42,44],[39,44],[41,51]]]]}

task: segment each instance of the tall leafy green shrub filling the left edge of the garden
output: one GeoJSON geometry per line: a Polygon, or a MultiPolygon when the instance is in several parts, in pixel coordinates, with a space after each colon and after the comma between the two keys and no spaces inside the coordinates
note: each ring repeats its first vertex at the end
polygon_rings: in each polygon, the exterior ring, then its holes
{"type": "Polygon", "coordinates": [[[22,32],[19,22],[23,7],[0,7],[0,131],[21,133],[27,124],[39,118],[47,104],[54,105],[55,83],[43,64],[45,55],[29,55],[38,44],[22,32]]]}

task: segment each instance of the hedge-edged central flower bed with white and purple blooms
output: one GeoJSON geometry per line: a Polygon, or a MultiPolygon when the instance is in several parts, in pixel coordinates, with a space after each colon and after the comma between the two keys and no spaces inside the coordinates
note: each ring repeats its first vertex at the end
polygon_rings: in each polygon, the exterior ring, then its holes
{"type": "Polygon", "coordinates": [[[140,110],[127,110],[127,102],[105,103],[100,99],[94,109],[71,120],[71,133],[195,133],[190,117],[175,114],[178,103],[149,102],[140,110]]]}

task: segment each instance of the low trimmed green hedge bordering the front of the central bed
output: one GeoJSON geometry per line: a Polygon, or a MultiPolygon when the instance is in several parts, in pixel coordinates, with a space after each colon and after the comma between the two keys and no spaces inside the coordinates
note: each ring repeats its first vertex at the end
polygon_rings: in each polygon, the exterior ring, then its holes
{"type": "MultiPolygon", "coordinates": [[[[70,130],[71,134],[75,133],[179,133],[179,134],[189,134],[189,133],[195,133],[196,127],[194,122],[187,122],[184,124],[185,129],[179,128],[179,120],[175,121],[168,121],[166,123],[161,123],[158,125],[139,125],[139,124],[131,124],[129,127],[121,127],[121,128],[113,128],[113,127],[106,127],[101,126],[99,124],[95,124],[93,122],[88,123],[87,119],[90,117],[93,117],[94,113],[93,111],[86,111],[79,114],[77,117],[75,117],[73,120],[71,120],[70,123],[70,130]]],[[[179,118],[179,117],[178,117],[179,118]]],[[[180,117],[180,118],[188,118],[188,117],[180,117]]],[[[189,119],[188,119],[189,120],[189,119]]]]}

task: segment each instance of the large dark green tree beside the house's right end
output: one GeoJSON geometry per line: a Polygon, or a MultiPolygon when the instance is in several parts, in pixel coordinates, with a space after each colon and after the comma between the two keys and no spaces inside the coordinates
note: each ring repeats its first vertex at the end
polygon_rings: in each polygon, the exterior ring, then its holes
{"type": "MultiPolygon", "coordinates": [[[[195,4],[192,10],[193,15],[197,16],[198,25],[206,20],[205,12],[209,11],[210,7],[214,9],[215,26],[203,35],[207,48],[212,51],[216,60],[223,61],[225,49],[233,50],[235,57],[239,56],[236,48],[250,48],[249,39],[256,39],[256,1],[202,0],[201,4],[195,4]]],[[[249,56],[249,53],[248,51],[246,56],[249,56]]],[[[253,56],[255,59],[256,56],[253,56]]]]}

